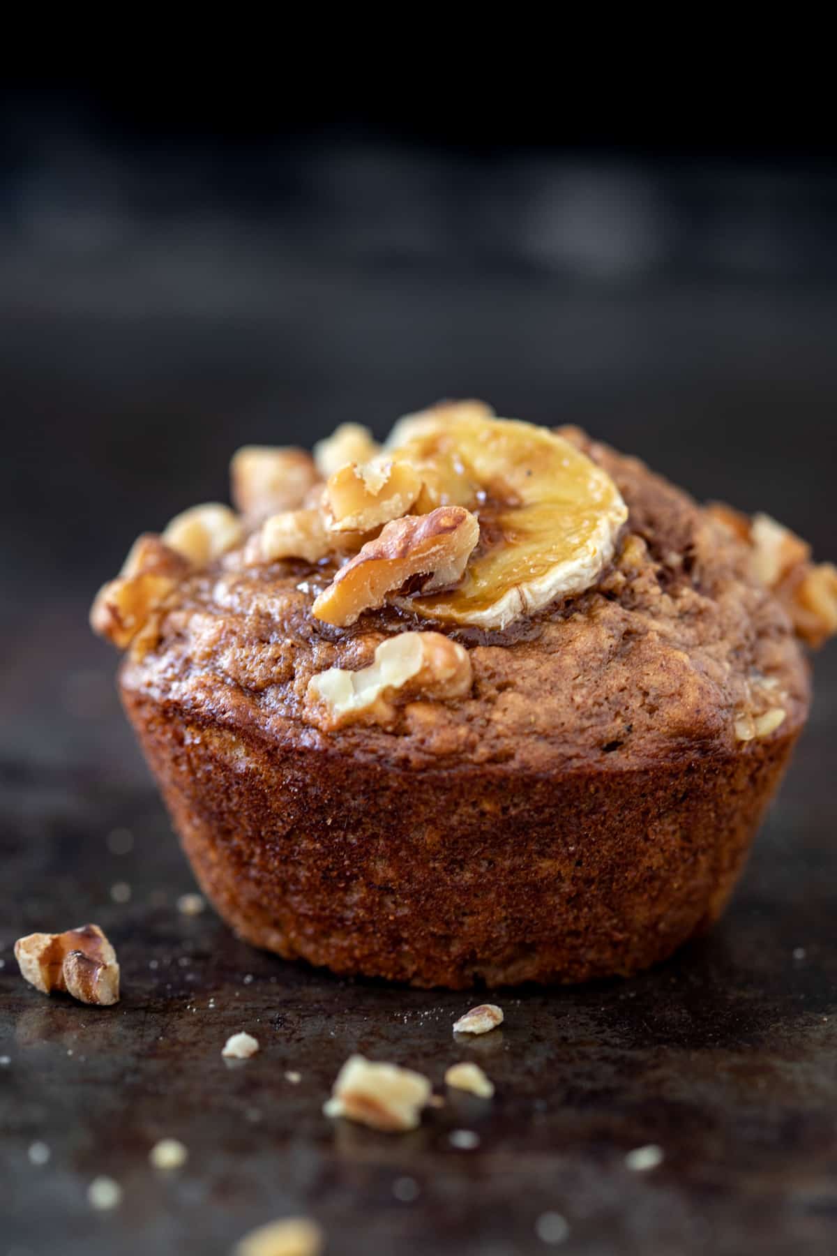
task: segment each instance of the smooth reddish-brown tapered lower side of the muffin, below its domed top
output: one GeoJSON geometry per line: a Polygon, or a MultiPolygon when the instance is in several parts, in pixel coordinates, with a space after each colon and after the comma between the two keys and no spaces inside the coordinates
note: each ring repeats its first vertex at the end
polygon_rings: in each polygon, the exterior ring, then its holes
{"type": "Polygon", "coordinates": [[[417,771],[122,697],[195,874],[242,938],[423,987],[666,958],[720,914],[801,730],[624,770],[417,771]]]}

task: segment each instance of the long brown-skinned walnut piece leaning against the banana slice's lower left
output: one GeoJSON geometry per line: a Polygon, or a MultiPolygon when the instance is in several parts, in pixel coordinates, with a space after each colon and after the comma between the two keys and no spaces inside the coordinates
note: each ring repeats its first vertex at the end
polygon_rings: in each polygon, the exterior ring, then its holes
{"type": "Polygon", "coordinates": [[[479,524],[463,506],[394,519],[340,568],[316,598],[312,613],[343,628],[364,610],[383,605],[388,593],[414,575],[429,578],[425,593],[456,584],[478,540],[479,524]]]}

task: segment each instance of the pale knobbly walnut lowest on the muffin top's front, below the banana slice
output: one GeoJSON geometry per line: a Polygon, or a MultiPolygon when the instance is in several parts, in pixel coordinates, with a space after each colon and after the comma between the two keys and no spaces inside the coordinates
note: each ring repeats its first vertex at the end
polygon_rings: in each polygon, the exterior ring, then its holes
{"type": "Polygon", "coordinates": [[[353,722],[389,723],[394,698],[449,700],[464,697],[472,683],[471,656],[463,646],[437,632],[404,632],[375,649],[375,661],[361,671],[330,667],[309,681],[306,707],[325,732],[353,722]]]}

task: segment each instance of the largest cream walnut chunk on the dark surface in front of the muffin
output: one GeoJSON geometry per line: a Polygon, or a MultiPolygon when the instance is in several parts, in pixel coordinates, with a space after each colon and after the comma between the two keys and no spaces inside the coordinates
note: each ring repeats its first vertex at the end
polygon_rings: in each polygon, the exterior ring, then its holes
{"type": "Polygon", "coordinates": [[[430,1083],[420,1073],[350,1055],[323,1110],[326,1117],[346,1117],[371,1129],[400,1133],[417,1128],[429,1099],[430,1083]]]}

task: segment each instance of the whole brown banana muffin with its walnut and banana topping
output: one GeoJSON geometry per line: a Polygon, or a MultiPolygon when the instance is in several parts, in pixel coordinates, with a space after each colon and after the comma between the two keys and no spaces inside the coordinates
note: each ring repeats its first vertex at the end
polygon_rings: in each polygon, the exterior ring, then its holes
{"type": "Polygon", "coordinates": [[[232,496],[141,536],[92,622],[242,938],[462,988],[629,975],[719,916],[833,566],[477,402],[247,447],[232,496]]]}

